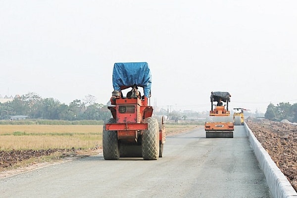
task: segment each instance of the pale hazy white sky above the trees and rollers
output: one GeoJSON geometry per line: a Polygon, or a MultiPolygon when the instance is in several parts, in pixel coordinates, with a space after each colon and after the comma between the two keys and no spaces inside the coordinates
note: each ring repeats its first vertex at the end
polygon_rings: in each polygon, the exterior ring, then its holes
{"type": "Polygon", "coordinates": [[[106,103],[115,62],[143,62],[151,104],[265,112],[297,102],[296,0],[0,0],[0,94],[106,103]]]}

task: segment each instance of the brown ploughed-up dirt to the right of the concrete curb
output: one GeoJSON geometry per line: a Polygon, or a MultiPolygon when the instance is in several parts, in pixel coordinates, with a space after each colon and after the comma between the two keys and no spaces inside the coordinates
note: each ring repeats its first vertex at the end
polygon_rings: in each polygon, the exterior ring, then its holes
{"type": "Polygon", "coordinates": [[[246,123],[297,191],[297,125],[255,119],[246,123]]]}

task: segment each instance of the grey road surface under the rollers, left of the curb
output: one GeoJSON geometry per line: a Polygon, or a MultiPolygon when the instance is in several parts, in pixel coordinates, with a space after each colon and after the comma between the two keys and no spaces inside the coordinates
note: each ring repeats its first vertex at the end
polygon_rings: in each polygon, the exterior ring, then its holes
{"type": "Polygon", "coordinates": [[[233,139],[204,129],[167,137],[164,157],[102,154],[0,179],[0,198],[272,198],[243,126],[233,139]]]}

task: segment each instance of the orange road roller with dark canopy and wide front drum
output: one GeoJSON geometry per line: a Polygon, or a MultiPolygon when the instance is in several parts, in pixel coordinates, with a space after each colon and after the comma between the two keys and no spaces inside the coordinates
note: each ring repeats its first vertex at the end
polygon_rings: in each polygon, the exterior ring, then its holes
{"type": "Polygon", "coordinates": [[[211,110],[205,121],[206,138],[233,138],[234,121],[228,109],[230,97],[229,92],[211,92],[211,110]]]}

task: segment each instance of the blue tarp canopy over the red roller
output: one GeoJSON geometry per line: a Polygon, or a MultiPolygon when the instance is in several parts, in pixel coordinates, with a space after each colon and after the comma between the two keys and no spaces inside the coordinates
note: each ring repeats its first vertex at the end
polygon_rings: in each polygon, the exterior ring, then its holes
{"type": "Polygon", "coordinates": [[[112,72],[113,89],[121,91],[136,84],[144,88],[144,95],[150,97],[151,74],[147,62],[114,63],[112,72]]]}

